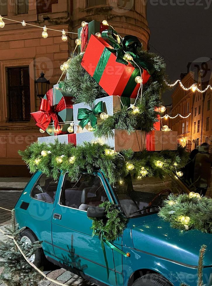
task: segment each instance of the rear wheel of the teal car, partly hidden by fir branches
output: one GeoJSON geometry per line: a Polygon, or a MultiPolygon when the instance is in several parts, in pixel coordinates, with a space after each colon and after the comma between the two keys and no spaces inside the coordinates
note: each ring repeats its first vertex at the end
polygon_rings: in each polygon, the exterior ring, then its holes
{"type": "MultiPolygon", "coordinates": [[[[26,229],[20,234],[20,241],[26,244],[32,244],[38,241],[36,235],[30,229],[26,229]]],[[[46,264],[46,257],[42,248],[36,250],[36,252],[29,259],[38,268],[44,267],[46,264]]]]}

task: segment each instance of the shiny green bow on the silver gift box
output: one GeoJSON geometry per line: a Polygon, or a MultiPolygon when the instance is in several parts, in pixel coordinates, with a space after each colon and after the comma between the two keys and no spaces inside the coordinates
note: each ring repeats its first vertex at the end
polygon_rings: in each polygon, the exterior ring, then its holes
{"type": "Polygon", "coordinates": [[[98,102],[92,110],[89,110],[88,108],[79,108],[78,114],[77,114],[77,120],[80,121],[79,126],[82,128],[85,127],[88,122],[91,123],[91,126],[95,128],[95,125],[97,123],[97,115],[102,113],[104,111],[103,109],[103,102],[98,102]]]}

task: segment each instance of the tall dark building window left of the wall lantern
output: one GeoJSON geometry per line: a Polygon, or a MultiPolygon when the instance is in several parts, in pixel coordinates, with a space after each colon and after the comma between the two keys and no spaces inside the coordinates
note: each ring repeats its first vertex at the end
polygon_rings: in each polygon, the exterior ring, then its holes
{"type": "Polygon", "coordinates": [[[7,68],[8,121],[30,121],[29,67],[7,68]]]}

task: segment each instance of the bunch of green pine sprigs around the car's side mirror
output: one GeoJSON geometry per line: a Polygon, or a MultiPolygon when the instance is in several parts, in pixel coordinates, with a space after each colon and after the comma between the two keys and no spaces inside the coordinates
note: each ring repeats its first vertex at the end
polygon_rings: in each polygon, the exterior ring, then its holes
{"type": "Polygon", "coordinates": [[[104,202],[99,207],[105,207],[106,219],[90,218],[93,221],[91,227],[93,236],[99,236],[101,231],[103,238],[113,242],[122,236],[128,220],[117,209],[117,205],[104,202]]]}

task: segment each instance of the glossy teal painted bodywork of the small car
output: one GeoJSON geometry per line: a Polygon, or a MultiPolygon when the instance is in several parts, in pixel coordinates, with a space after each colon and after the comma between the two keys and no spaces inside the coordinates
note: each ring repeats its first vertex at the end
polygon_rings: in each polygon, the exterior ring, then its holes
{"type": "MultiPolygon", "coordinates": [[[[120,205],[104,174],[100,171],[94,174],[101,179],[108,200],[120,205]]],[[[157,212],[129,216],[123,236],[113,242],[125,253],[130,253],[130,257],[105,245],[108,277],[100,239],[92,236],[92,220],[87,212],[60,204],[64,175],[61,174],[58,180],[53,203],[32,198],[31,190],[39,176],[41,172],[34,174],[23,190],[15,212],[19,226],[32,230],[42,241],[49,261],[97,285],[131,286],[141,275],[159,273],[170,285],[179,286],[185,282],[196,286],[199,249],[206,244],[203,280],[206,286],[212,285],[211,234],[173,229],[157,212]]]]}

